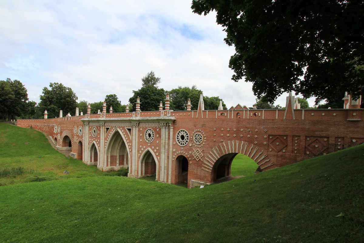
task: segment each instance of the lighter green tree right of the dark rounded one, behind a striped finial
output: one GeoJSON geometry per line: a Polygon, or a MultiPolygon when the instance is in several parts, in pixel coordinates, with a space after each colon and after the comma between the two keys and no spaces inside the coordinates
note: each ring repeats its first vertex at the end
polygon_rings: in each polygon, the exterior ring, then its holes
{"type": "Polygon", "coordinates": [[[197,89],[195,85],[190,87],[178,86],[177,89],[168,91],[169,98],[171,99],[170,109],[171,110],[186,110],[188,99],[191,101],[191,110],[197,110],[198,101],[202,91],[197,89]]]}

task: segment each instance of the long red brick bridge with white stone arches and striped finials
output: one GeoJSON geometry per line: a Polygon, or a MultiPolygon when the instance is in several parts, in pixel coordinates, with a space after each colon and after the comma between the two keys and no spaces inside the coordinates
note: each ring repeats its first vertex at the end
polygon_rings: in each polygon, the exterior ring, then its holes
{"type": "Polygon", "coordinates": [[[155,174],[192,188],[230,175],[238,153],[265,171],[364,143],[364,110],[346,98],[344,107],[355,109],[295,109],[290,94],[285,109],[204,110],[200,98],[197,110],[172,111],[167,95],[165,110],[161,103],[159,111],[138,111],[137,100],[135,112],[106,113],[104,105],[100,114],[45,113],[17,126],[45,132],[58,149],[101,171],[128,168],[129,177],[155,174]]]}

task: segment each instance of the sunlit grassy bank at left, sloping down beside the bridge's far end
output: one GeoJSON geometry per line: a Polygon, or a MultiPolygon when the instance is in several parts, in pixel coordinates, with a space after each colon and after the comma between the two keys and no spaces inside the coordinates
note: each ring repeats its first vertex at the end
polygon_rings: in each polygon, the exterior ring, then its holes
{"type": "Polygon", "coordinates": [[[57,152],[42,133],[0,122],[0,170],[18,166],[33,169],[36,173],[11,179],[0,178],[0,185],[21,183],[31,176],[64,179],[102,175],[95,166],[87,166],[57,152]],[[64,175],[64,170],[71,174],[64,175]]]}

